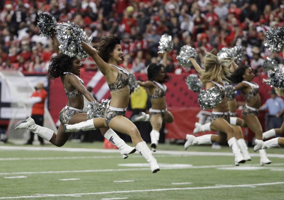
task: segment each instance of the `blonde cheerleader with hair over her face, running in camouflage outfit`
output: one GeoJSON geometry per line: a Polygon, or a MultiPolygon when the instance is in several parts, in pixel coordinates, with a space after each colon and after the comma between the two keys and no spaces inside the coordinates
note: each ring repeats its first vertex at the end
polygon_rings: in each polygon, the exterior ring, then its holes
{"type": "Polygon", "coordinates": [[[230,70],[225,66],[225,62],[228,62],[228,60],[219,60],[216,56],[216,51],[216,49],[212,50],[212,53],[215,55],[206,53],[204,57],[204,70],[201,69],[194,58],[189,59],[199,73],[201,82],[206,87],[206,90],[215,87],[222,91],[220,94],[222,95],[222,102],[213,108],[210,118],[212,126],[219,131],[219,134],[207,134],[199,137],[187,134],[187,141],[185,142],[184,149],[186,150],[191,145],[212,144],[212,142],[221,143],[227,141],[235,156],[235,165],[239,165],[239,163],[245,163],[246,160],[241,155],[237,140],[234,137],[234,130],[230,125],[230,110],[225,96],[225,85],[222,82],[223,80],[227,80],[226,77],[230,76],[230,70]]]}

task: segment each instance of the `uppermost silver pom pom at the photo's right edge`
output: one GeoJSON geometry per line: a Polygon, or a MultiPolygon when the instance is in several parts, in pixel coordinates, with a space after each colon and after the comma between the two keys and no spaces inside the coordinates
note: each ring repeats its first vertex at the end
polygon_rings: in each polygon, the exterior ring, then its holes
{"type": "Polygon", "coordinates": [[[266,31],[264,46],[272,52],[280,52],[284,44],[284,27],[272,28],[266,31]]]}

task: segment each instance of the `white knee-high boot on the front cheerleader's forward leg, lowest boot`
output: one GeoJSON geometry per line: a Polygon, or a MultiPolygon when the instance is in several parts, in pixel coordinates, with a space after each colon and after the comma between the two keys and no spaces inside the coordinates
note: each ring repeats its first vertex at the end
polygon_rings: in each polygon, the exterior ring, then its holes
{"type": "Polygon", "coordinates": [[[149,149],[149,147],[146,145],[146,142],[144,141],[139,142],[135,148],[149,163],[152,173],[160,171],[160,167],[157,163],[157,160],[152,155],[152,152],[149,149]]]}

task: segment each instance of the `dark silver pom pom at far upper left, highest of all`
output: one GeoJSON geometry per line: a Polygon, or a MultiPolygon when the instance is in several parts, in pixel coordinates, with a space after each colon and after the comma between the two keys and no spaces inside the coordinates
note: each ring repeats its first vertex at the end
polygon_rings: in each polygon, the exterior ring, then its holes
{"type": "Polygon", "coordinates": [[[47,12],[38,13],[38,28],[41,37],[51,37],[51,29],[56,29],[57,22],[53,15],[47,12]]]}

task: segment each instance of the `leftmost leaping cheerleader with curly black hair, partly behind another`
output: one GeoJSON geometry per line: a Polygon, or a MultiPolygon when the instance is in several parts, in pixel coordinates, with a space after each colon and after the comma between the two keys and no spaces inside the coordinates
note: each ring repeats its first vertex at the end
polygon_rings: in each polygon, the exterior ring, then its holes
{"type": "Polygon", "coordinates": [[[104,135],[106,139],[112,137],[112,141],[114,141],[114,145],[119,148],[122,157],[127,158],[128,154],[135,152],[135,148],[127,145],[111,128],[108,128],[105,125],[104,118],[96,118],[89,121],[87,114],[82,113],[84,107],[84,96],[88,99],[88,101],[95,101],[95,99],[91,93],[86,90],[83,80],[79,78],[80,69],[82,67],[80,60],[76,57],[70,58],[69,56],[61,53],[59,50],[59,41],[57,40],[54,31],[51,32],[52,40],[56,46],[57,56],[53,56],[51,58],[47,77],[49,80],[57,77],[61,78],[68,99],[67,105],[59,113],[59,120],[61,124],[59,125],[58,132],[56,134],[48,128],[36,125],[35,121],[31,117],[17,123],[14,129],[28,129],[48,140],[53,145],[61,147],[67,142],[71,135],[71,133],[63,131],[63,125],[76,124],[85,121],[87,124],[82,130],[94,130],[96,128],[100,128],[102,135],[104,135]]]}

